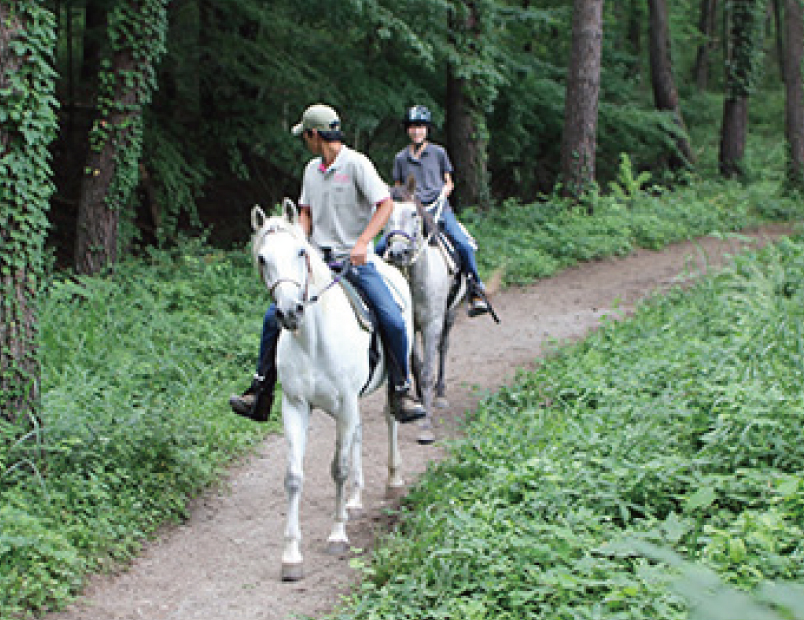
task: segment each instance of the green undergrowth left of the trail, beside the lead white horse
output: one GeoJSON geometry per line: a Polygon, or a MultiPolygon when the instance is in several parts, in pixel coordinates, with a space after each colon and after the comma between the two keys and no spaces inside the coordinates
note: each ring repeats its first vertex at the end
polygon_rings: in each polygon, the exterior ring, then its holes
{"type": "Polygon", "coordinates": [[[226,404],[253,372],[267,301],[246,251],[197,242],[114,280],[49,283],[42,426],[20,441],[0,426],[0,617],[63,605],[278,430],[226,404]]]}

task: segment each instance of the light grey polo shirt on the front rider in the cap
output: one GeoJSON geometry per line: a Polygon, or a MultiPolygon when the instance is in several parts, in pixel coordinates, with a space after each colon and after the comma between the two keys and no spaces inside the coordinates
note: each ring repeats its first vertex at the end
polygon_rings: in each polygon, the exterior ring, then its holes
{"type": "MultiPolygon", "coordinates": [[[[310,207],[310,241],[318,249],[348,253],[363,233],[374,207],[390,197],[368,157],[346,145],[329,168],[320,157],[307,164],[299,205],[310,207]]],[[[373,245],[369,244],[369,251],[373,245]]]]}

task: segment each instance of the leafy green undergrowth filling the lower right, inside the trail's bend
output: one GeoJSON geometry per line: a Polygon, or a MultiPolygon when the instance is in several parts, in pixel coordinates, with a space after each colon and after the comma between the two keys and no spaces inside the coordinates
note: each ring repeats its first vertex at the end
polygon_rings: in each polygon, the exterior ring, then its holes
{"type": "Polygon", "coordinates": [[[803,381],[798,239],[489,397],[332,617],[803,618],[803,381]]]}

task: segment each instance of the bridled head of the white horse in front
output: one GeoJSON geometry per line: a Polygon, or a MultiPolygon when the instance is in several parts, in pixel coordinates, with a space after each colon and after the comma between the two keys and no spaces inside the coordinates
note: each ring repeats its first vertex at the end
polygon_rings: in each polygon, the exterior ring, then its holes
{"type": "Polygon", "coordinates": [[[311,273],[312,248],[298,224],[296,205],[283,202],[283,216],[266,217],[251,211],[251,251],[257,271],[276,303],[276,318],[289,330],[298,329],[304,316],[311,273]]]}

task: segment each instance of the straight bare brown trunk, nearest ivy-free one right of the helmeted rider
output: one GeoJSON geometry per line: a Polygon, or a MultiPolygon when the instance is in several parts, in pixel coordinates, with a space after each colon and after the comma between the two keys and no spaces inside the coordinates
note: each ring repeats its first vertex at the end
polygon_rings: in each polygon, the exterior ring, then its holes
{"type": "Polygon", "coordinates": [[[576,199],[595,182],[602,15],[603,0],[574,0],[561,174],[562,193],[576,199]]]}

